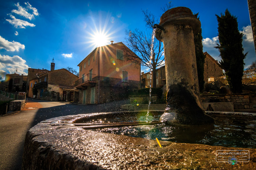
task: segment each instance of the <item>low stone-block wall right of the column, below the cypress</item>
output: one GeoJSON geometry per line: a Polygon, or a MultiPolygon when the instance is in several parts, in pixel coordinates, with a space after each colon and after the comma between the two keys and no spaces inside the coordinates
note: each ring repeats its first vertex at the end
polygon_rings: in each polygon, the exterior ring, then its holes
{"type": "Polygon", "coordinates": [[[201,103],[232,102],[234,109],[250,109],[249,94],[200,95],[201,103]]]}

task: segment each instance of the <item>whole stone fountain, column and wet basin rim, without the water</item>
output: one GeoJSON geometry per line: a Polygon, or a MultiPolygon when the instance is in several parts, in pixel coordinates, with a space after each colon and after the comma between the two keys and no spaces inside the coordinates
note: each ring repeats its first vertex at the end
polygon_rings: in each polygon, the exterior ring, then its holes
{"type": "MultiPolygon", "coordinates": [[[[213,122],[204,114],[199,89],[193,36],[200,29],[199,20],[185,7],[162,15],[156,37],[165,48],[168,85],[169,121],[182,124],[213,122]],[[174,111],[174,112],[171,112],[174,111]]],[[[26,134],[22,169],[255,169],[256,163],[216,162],[217,150],[256,149],[227,148],[189,143],[160,141],[92,131],[122,123],[98,123],[122,113],[95,113],[63,116],[41,121],[26,134]],[[84,123],[88,122],[88,123],[84,123]]],[[[161,112],[162,114],[162,112],[161,112]]],[[[121,116],[120,116],[121,115],[121,116]]],[[[132,122],[131,122],[132,123],[132,122]]],[[[146,122],[148,123],[148,122],[146,122]]],[[[128,123],[127,123],[128,124],[128,123]]],[[[131,124],[129,125],[131,126],[131,124]]],[[[203,126],[202,126],[203,128],[203,126]]]]}

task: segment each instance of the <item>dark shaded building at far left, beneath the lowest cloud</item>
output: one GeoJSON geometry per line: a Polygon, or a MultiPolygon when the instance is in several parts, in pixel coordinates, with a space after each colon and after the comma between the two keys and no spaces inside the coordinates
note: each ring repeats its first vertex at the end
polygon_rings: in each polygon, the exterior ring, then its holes
{"type": "Polygon", "coordinates": [[[4,91],[24,91],[26,92],[26,87],[27,87],[27,81],[28,81],[28,76],[27,75],[20,75],[17,73],[14,74],[6,74],[5,75],[5,81],[4,81],[4,91]],[[9,86],[9,83],[11,81],[11,86],[9,86]],[[9,87],[11,89],[9,89],[9,87]]]}

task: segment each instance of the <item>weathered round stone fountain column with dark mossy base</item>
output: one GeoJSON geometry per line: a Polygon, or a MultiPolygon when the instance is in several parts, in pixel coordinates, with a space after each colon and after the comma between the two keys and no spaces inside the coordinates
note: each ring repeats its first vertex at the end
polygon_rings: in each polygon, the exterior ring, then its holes
{"type": "Polygon", "coordinates": [[[201,23],[186,7],[166,11],[160,18],[156,38],[163,42],[167,83],[168,121],[181,124],[213,122],[204,114],[199,99],[199,83],[194,35],[201,23]]]}

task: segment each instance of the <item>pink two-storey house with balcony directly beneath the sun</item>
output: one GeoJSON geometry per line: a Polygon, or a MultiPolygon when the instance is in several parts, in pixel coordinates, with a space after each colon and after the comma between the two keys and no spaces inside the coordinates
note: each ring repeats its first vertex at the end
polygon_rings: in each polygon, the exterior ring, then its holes
{"type": "Polygon", "coordinates": [[[126,60],[122,42],[97,47],[79,66],[79,103],[98,104],[128,97],[140,87],[140,65],[126,60]]]}

